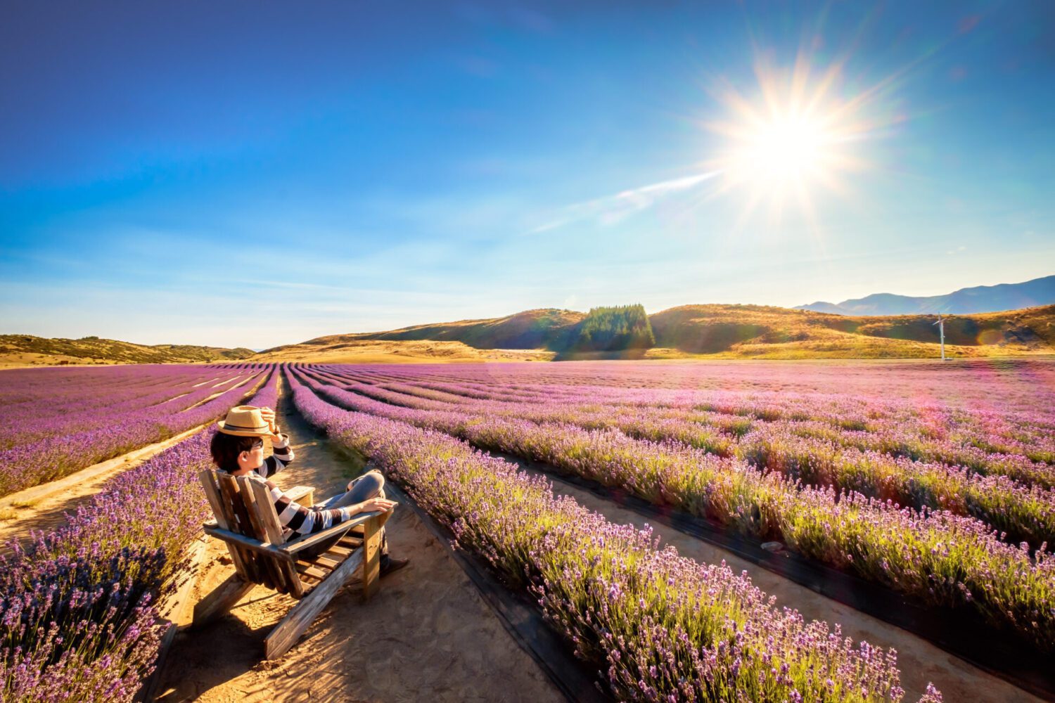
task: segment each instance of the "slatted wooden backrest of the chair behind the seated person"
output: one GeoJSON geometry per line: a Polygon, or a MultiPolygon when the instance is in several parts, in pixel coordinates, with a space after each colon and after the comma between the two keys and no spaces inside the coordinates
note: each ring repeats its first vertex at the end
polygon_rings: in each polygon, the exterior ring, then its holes
{"type": "MultiPolygon", "coordinates": [[[[248,476],[235,477],[212,469],[202,471],[198,477],[219,527],[249,538],[262,547],[283,543],[282,526],[267,486],[248,476]]],[[[229,546],[235,570],[243,579],[300,595],[303,590],[300,578],[286,560],[230,543],[229,546]]]]}

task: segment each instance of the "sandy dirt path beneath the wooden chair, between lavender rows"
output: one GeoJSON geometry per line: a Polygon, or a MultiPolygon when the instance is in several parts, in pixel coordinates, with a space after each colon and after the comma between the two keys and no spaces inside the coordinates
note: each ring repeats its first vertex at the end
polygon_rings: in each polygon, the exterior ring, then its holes
{"type": "MultiPolygon", "coordinates": [[[[296,454],[280,485],[314,486],[321,501],[364,470],[291,404],[281,399],[279,411],[296,454]]],[[[345,588],[290,651],[266,662],[264,637],[293,600],[257,586],[229,616],[176,636],[156,700],[563,700],[409,509],[397,509],[387,529],[392,554],[411,565],[387,577],[369,604],[345,588]]],[[[209,550],[191,606],[233,571],[222,545],[210,541],[209,550]]]]}

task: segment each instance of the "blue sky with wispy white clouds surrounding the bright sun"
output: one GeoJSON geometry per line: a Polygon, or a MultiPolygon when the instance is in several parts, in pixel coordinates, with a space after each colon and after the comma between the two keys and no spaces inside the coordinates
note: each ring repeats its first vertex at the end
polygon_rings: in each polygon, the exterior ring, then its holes
{"type": "Polygon", "coordinates": [[[6,2],[0,332],[264,348],[1049,275],[1052,26],[1024,0],[6,2]],[[778,211],[714,123],[797,57],[807,90],[840,66],[858,165],[778,211]]]}

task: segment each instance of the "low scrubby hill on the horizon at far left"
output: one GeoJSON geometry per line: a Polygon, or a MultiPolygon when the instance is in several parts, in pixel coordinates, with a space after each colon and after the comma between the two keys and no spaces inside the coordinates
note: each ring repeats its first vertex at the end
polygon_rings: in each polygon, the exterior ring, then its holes
{"type": "Polygon", "coordinates": [[[82,337],[50,339],[30,334],[0,334],[0,367],[65,364],[191,364],[248,358],[252,349],[137,345],[116,339],[82,337]]]}

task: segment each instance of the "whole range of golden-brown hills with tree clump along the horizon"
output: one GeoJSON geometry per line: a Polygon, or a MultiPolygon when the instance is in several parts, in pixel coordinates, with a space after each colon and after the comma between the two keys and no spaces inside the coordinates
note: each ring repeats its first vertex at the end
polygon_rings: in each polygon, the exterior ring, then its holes
{"type": "MultiPolygon", "coordinates": [[[[330,364],[544,362],[605,358],[934,358],[939,354],[933,315],[829,314],[754,305],[688,305],[635,323],[641,335],[626,349],[584,346],[598,325],[620,339],[628,319],[613,311],[639,306],[528,310],[504,317],[429,324],[384,332],[333,334],[253,353],[180,345],[136,345],[114,339],[45,339],[0,335],[0,367],[64,364],[187,364],[219,360],[330,364]],[[647,321],[646,321],[647,320],[647,321]],[[654,344],[642,345],[652,335],[654,344]],[[586,335],[590,337],[590,335],[586,335]],[[597,351],[601,349],[603,351],[597,351]]],[[[1055,354],[1055,306],[954,315],[945,323],[952,357],[1055,354]]]]}

